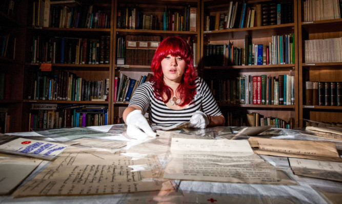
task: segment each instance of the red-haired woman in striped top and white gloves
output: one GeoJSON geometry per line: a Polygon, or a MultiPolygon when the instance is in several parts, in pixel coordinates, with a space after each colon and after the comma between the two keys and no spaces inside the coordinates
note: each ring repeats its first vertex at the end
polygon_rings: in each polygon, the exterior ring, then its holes
{"type": "Polygon", "coordinates": [[[157,125],[190,121],[189,127],[222,126],[225,117],[208,85],[196,76],[189,44],[180,37],[167,37],[158,46],[151,64],[154,76],[136,88],[123,113],[132,138],[155,136],[149,120],[157,125]]]}

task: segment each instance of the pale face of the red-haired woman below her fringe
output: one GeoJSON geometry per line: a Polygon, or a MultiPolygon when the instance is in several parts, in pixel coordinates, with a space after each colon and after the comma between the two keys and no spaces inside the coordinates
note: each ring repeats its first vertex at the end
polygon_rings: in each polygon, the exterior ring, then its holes
{"type": "Polygon", "coordinates": [[[167,83],[168,81],[172,81],[180,83],[186,67],[186,62],[182,57],[175,57],[169,54],[160,62],[160,64],[162,65],[164,82],[167,83]]]}

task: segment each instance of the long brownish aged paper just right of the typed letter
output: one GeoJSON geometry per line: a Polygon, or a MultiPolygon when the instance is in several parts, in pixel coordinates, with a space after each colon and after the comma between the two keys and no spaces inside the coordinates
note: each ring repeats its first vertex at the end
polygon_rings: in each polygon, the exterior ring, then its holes
{"type": "Polygon", "coordinates": [[[280,140],[268,138],[248,139],[257,154],[342,161],[332,142],[280,140]]]}

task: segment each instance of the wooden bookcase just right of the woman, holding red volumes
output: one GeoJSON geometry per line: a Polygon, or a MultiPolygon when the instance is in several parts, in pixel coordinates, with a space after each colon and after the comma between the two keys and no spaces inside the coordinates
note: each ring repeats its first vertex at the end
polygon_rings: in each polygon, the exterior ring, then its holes
{"type": "MultiPolygon", "coordinates": [[[[278,3],[289,2],[289,1],[280,1],[278,3]]],[[[201,76],[203,76],[211,86],[212,81],[222,80],[234,80],[236,77],[243,77],[245,75],[252,76],[274,76],[278,77],[278,75],[289,75],[294,76],[294,84],[295,87],[298,85],[298,58],[297,58],[297,48],[296,48],[296,36],[297,36],[297,1],[290,1],[292,4],[292,21],[286,22],[284,24],[279,25],[263,25],[263,26],[254,26],[254,27],[246,27],[242,26],[242,22],[238,27],[225,28],[227,22],[224,24],[224,28],[222,30],[218,29],[210,29],[207,30],[207,16],[216,16],[218,14],[225,13],[229,19],[229,8],[230,3],[226,1],[211,1],[204,0],[202,1],[202,10],[201,10],[201,43],[200,43],[200,58],[201,60],[201,76]],[[247,65],[242,62],[242,65],[207,65],[206,64],[206,56],[209,55],[206,46],[207,44],[226,44],[229,42],[233,43],[234,47],[244,48],[245,46],[245,36],[248,35],[251,38],[253,44],[264,44],[264,46],[268,45],[269,42],[272,41],[272,37],[274,35],[286,35],[289,33],[294,34],[294,62],[287,64],[263,64],[263,65],[247,65]]],[[[251,9],[256,10],[257,4],[268,4],[272,3],[271,1],[246,1],[246,6],[251,9]]],[[[235,2],[234,2],[235,4],[235,2]]],[[[239,7],[239,9],[243,8],[239,7]]],[[[237,13],[241,15],[242,13],[237,13]]],[[[246,9],[247,14],[247,9],[246,9]]],[[[217,19],[217,18],[216,18],[217,19]]],[[[215,21],[216,21],[215,19],[215,21]]],[[[247,18],[246,18],[247,20],[247,18]]],[[[227,49],[227,48],[226,48],[227,49]]],[[[226,53],[227,54],[227,53],[226,53]]],[[[226,55],[227,56],[227,55],[226,55]]],[[[217,88],[217,87],[216,87],[217,88]]],[[[215,90],[216,94],[220,94],[223,92],[223,87],[220,87],[222,90],[215,90]]],[[[225,97],[225,96],[224,96],[225,97]]],[[[246,116],[246,114],[250,114],[251,112],[258,112],[264,117],[279,117],[282,120],[287,120],[288,118],[294,119],[294,127],[298,127],[298,92],[295,89],[294,94],[295,104],[292,105],[255,105],[255,104],[238,104],[238,103],[218,103],[221,110],[223,111],[226,121],[229,119],[229,113],[233,112],[233,120],[238,119],[240,117],[246,116]],[[227,115],[228,114],[228,115],[227,115]]],[[[222,100],[222,99],[220,99],[222,100]]],[[[230,121],[231,122],[231,121],[230,121]]],[[[241,124],[241,123],[239,123],[241,124]]],[[[247,124],[247,120],[246,120],[247,124]]]]}

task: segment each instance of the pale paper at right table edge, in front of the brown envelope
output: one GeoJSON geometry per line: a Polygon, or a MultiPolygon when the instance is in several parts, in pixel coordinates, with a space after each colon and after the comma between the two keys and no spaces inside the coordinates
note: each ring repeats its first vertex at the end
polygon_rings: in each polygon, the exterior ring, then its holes
{"type": "Polygon", "coordinates": [[[289,158],[294,174],[342,182],[342,163],[289,158]]]}

